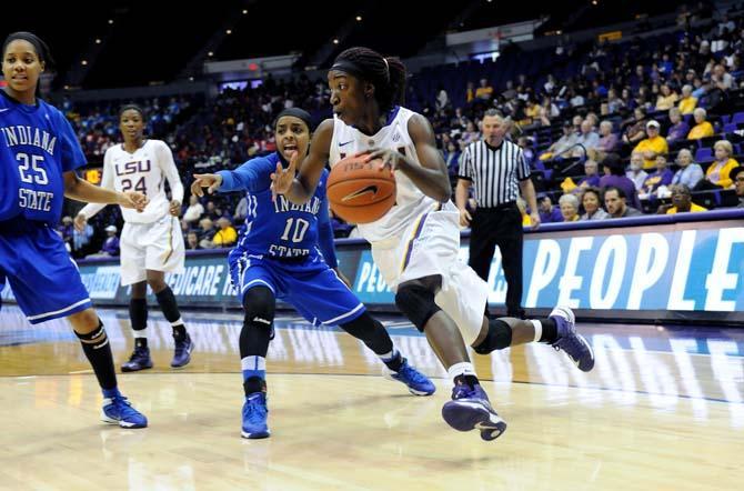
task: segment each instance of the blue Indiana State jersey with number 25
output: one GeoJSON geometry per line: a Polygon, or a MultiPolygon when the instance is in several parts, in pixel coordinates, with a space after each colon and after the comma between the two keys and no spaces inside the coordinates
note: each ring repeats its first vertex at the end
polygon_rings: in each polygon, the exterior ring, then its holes
{"type": "Polygon", "coordinates": [[[54,107],[18,102],[0,89],[0,221],[57,224],[63,173],[86,164],[72,127],[54,107]]]}

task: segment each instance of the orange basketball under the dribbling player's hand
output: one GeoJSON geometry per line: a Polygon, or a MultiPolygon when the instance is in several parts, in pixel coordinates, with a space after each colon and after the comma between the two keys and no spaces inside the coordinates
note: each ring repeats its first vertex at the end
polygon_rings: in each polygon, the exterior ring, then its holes
{"type": "Polygon", "coordinates": [[[382,160],[365,162],[366,156],[346,157],[328,177],[331,210],[349,223],[371,223],[395,203],[395,178],[380,170],[382,160]]]}

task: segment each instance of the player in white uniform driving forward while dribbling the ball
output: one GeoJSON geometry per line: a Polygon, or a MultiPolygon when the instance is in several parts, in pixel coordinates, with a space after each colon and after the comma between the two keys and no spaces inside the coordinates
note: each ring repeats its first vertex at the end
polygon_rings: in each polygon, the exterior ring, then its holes
{"type": "Polygon", "coordinates": [[[421,330],[453,379],[452,400],[442,417],[454,429],[477,429],[493,440],[506,423],[491,407],[470,362],[465,343],[476,353],[530,341],[563,350],[583,371],[594,354],[576,333],[574,314],[557,307],[547,319],[489,320],[487,284],[458,259],[459,212],[450,201],[446,164],[436,150],[434,132],[424,117],[400,104],[405,96],[405,67],[366,48],[351,48],[328,73],[334,118],[315,131],[310,153],[278,167],[272,189],[302,206],[316,196],[326,162],[350,154],[380,158],[380,171],[392,172],[395,206],[380,220],[360,224],[375,264],[395,292],[398,308],[421,330]]]}

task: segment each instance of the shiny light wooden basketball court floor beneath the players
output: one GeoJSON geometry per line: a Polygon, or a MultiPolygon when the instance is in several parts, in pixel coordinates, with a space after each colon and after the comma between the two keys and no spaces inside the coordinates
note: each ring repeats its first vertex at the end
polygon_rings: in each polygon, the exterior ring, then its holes
{"type": "MultiPolygon", "coordinates": [[[[100,310],[117,363],[132,334],[100,310]]],[[[425,339],[385,318],[438,392],[410,395],[350,335],[280,315],[268,357],[267,440],[240,437],[240,315],[184,315],[192,362],[169,367],[170,327],[151,313],[155,368],[120,375],[150,420],[99,421],[101,394],[64,321],[0,311],[0,489],[701,490],[741,489],[744,332],[581,324],[591,373],[530,344],[475,355],[509,429],[495,441],[444,423],[450,381],[425,339]]]]}

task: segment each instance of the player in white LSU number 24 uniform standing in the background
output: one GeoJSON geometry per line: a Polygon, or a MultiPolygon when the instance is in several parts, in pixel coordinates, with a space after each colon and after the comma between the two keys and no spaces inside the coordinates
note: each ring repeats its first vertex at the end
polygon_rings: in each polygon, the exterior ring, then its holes
{"type": "MultiPolygon", "coordinates": [[[[171,149],[163,141],[143,138],[144,117],[139,107],[124,106],[119,122],[124,142],[105,151],[101,187],[139,191],[150,198],[150,203],[141,213],[121,210],[124,217],[120,242],[121,284],[132,285],[129,314],[135,338],[134,352],[121,369],[138,371],[152,367],[147,341],[148,284],[173,327],[175,352],[171,367],[180,368],[190,360],[191,339],[185,332],[175,297],[165,283],[164,273],[184,270],[185,248],[178,220],[183,202],[183,184],[171,149]],[[165,194],[165,181],[171,188],[170,202],[165,194]]],[[[101,204],[88,204],[76,217],[76,227],[82,227],[86,219],[102,208],[101,204]]]]}

